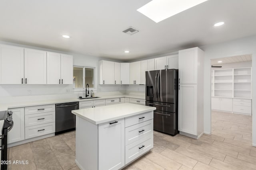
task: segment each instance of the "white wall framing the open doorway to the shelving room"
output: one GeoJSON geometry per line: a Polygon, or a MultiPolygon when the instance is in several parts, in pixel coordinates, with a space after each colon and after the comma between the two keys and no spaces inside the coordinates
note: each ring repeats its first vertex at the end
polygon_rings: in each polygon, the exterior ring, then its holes
{"type": "Polygon", "coordinates": [[[211,59],[252,54],[252,144],[256,146],[256,36],[200,47],[204,50],[204,132],[211,133],[211,59]]]}

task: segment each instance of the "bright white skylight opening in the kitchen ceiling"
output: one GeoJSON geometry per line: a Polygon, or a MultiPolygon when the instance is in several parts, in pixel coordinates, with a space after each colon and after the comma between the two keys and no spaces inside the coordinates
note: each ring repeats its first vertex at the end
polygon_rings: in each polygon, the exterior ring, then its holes
{"type": "Polygon", "coordinates": [[[207,0],[152,0],[137,11],[156,23],[207,0]]]}

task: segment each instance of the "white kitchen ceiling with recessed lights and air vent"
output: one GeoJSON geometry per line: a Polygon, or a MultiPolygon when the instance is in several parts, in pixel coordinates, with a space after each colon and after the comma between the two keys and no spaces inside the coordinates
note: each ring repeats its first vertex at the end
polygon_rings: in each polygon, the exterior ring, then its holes
{"type": "Polygon", "coordinates": [[[0,0],[0,41],[129,61],[256,35],[256,0],[208,0],[159,23],[136,11],[148,2],[0,0]]]}

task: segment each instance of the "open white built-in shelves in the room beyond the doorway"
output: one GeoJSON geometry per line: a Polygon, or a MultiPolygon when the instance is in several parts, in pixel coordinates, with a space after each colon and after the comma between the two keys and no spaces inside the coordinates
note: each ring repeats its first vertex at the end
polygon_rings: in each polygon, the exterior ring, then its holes
{"type": "Polygon", "coordinates": [[[251,67],[212,70],[212,97],[251,99],[251,67]]]}

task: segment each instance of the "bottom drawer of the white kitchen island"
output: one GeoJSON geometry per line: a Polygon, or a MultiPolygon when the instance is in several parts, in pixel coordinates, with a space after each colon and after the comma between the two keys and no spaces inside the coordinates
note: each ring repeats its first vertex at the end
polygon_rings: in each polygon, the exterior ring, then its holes
{"type": "Polygon", "coordinates": [[[153,133],[125,147],[125,164],[153,148],[153,133]]]}

